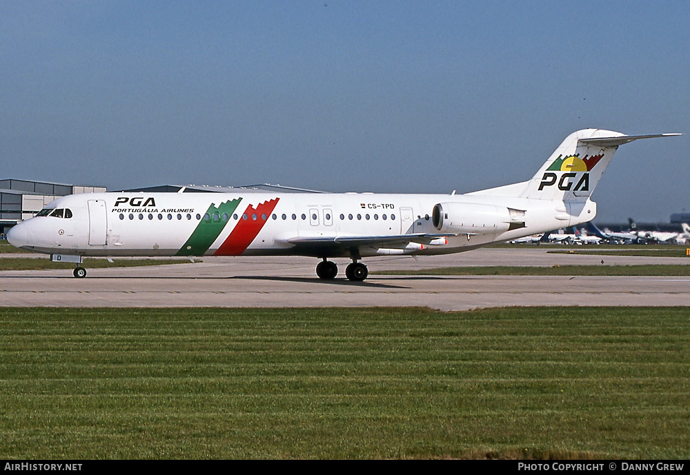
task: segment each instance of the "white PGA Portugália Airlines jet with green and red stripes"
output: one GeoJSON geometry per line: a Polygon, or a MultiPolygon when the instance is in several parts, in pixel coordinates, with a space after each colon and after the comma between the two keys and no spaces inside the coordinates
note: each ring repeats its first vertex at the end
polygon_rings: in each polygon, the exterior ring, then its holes
{"type": "Polygon", "coordinates": [[[590,196],[619,145],[680,134],[573,132],[529,180],[467,194],[72,194],[14,226],[16,247],[84,256],[313,256],[321,279],[363,281],[362,258],[462,252],[591,221],[590,196]]]}

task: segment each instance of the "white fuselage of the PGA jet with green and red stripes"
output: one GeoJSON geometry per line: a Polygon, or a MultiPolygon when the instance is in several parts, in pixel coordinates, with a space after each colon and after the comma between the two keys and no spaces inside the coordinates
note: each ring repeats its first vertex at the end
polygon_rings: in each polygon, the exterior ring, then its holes
{"type": "MultiPolygon", "coordinates": [[[[70,210],[71,217],[37,216],[24,221],[12,232],[14,245],[76,256],[347,257],[353,256],[355,247],[359,256],[446,254],[576,225],[593,219],[596,210],[589,200],[575,205],[461,194],[264,192],[75,194],[53,201],[48,208],[70,210]],[[439,229],[433,222],[439,203],[457,215],[451,216],[455,217],[451,228],[439,229]],[[498,221],[508,216],[505,210],[519,210],[520,227],[508,230],[515,224],[495,225],[495,217],[458,222],[463,210],[477,216],[472,210],[491,207],[503,210],[497,212],[498,221]],[[405,234],[428,236],[400,239],[405,234]],[[351,241],[339,243],[358,236],[375,240],[364,239],[356,246],[351,241]],[[386,236],[397,237],[386,243],[386,236]]],[[[450,222],[447,213],[446,222],[450,222]]]]}

